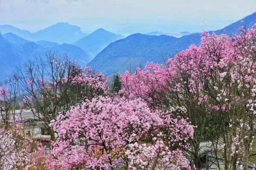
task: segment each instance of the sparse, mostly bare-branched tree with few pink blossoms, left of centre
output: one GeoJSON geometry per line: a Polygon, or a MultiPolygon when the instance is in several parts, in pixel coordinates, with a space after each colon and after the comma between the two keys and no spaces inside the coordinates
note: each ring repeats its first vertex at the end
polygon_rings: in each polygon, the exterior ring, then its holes
{"type": "MultiPolygon", "coordinates": [[[[104,94],[107,82],[103,74],[89,67],[80,68],[66,55],[49,51],[46,58],[46,61],[27,62],[17,69],[16,77],[21,91],[27,95],[21,106],[31,109],[35,117],[50,128],[49,122],[59,112],[65,113],[72,105],[104,94]]],[[[51,139],[55,140],[52,129],[51,139]]]]}

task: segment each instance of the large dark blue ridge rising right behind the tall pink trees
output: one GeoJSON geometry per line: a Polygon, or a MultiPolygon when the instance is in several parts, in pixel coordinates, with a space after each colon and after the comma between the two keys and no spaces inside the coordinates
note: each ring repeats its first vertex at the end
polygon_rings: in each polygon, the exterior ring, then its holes
{"type": "MultiPolygon", "coordinates": [[[[223,29],[210,32],[232,35],[232,33],[239,32],[239,27],[242,25],[251,28],[256,23],[256,13],[241,20],[223,29]],[[241,20],[244,22],[241,23],[241,20]]],[[[138,65],[144,67],[150,61],[163,63],[178,51],[188,48],[189,45],[199,45],[200,38],[201,33],[185,35],[180,38],[167,35],[132,34],[125,39],[112,42],[88,65],[107,75],[122,74],[125,70],[134,69],[138,65]]]]}

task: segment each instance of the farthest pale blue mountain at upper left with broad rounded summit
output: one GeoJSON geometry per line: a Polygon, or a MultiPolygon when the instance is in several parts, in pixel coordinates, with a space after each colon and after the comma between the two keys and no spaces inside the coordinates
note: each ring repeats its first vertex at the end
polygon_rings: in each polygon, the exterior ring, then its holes
{"type": "Polygon", "coordinates": [[[10,25],[0,25],[0,31],[2,34],[13,33],[20,36],[26,40],[31,41],[51,41],[57,42],[59,44],[69,43],[72,44],[82,37],[87,36],[81,31],[80,27],[70,25],[69,23],[57,23],[55,25],[49,26],[43,30],[37,31],[35,33],[30,33],[26,30],[20,30],[10,25]]]}

